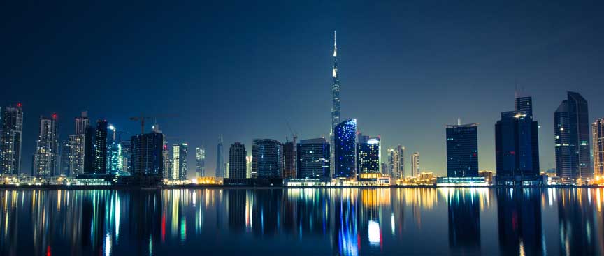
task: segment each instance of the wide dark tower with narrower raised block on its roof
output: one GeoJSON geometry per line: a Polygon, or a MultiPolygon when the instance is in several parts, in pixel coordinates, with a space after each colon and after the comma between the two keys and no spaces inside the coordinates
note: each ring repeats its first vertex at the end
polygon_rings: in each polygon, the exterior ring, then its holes
{"type": "Polygon", "coordinates": [[[538,123],[531,97],[517,97],[515,106],[495,124],[497,183],[540,184],[538,123]]]}

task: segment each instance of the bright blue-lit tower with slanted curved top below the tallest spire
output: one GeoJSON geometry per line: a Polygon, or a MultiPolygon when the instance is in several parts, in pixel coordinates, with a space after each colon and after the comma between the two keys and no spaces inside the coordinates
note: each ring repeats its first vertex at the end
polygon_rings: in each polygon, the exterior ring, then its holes
{"type": "Polygon", "coordinates": [[[347,119],[333,129],[333,156],[336,160],[336,178],[355,178],[357,174],[355,141],[357,139],[357,119],[347,119]]]}

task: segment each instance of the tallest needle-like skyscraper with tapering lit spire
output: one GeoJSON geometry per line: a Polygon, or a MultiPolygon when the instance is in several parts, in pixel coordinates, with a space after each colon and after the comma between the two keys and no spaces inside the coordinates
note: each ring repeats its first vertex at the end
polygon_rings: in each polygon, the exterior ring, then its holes
{"type": "MultiPolygon", "coordinates": [[[[338,123],[340,123],[340,78],[338,77],[338,46],[336,44],[336,31],[333,31],[333,67],[331,69],[331,133],[329,135],[329,144],[331,145],[332,149],[336,149],[335,130],[338,123]]],[[[331,152],[330,158],[330,170],[331,172],[336,172],[337,168],[335,150],[331,152]]],[[[335,176],[338,176],[338,174],[335,174],[335,176]]]]}

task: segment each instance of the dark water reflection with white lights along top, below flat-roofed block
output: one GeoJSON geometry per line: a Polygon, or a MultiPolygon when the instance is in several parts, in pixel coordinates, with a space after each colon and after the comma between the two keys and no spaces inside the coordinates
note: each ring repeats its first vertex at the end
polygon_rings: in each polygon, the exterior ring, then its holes
{"type": "Polygon", "coordinates": [[[456,255],[480,254],[480,198],[476,189],[445,188],[449,247],[456,255]]]}

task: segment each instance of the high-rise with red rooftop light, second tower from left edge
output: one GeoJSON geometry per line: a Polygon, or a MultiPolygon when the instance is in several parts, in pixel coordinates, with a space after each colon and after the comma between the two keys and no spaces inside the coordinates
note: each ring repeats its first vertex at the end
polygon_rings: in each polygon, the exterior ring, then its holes
{"type": "Polygon", "coordinates": [[[57,167],[57,115],[40,117],[40,133],[36,141],[33,176],[54,176],[57,167]]]}

